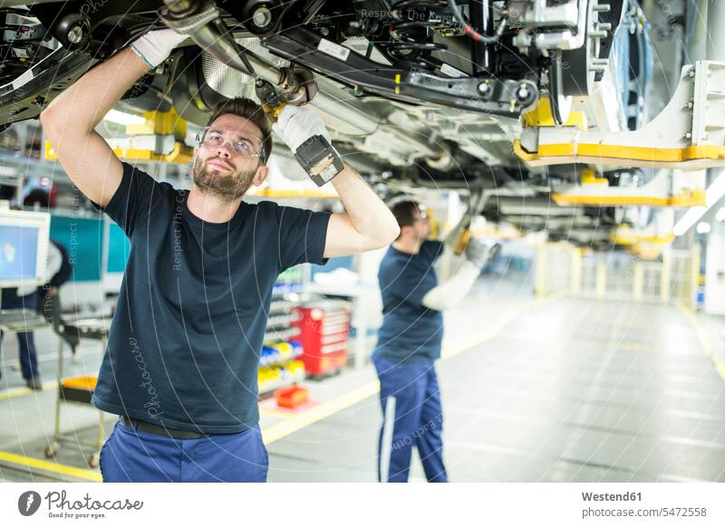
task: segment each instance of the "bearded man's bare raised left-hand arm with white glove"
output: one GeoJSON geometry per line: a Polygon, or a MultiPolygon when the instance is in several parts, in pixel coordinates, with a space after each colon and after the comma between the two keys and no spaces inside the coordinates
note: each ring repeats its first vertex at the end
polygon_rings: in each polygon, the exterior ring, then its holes
{"type": "Polygon", "coordinates": [[[139,77],[166,60],[184,36],[169,30],[146,34],[84,74],[40,115],[61,166],[81,192],[106,206],[121,184],[121,161],[95,131],[139,77]]]}

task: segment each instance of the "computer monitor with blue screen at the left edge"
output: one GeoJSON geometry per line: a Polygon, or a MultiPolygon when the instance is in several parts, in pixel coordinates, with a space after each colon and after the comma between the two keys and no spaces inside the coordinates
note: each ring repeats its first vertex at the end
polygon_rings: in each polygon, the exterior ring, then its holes
{"type": "Polygon", "coordinates": [[[42,285],[51,216],[0,208],[0,287],[42,285]]]}

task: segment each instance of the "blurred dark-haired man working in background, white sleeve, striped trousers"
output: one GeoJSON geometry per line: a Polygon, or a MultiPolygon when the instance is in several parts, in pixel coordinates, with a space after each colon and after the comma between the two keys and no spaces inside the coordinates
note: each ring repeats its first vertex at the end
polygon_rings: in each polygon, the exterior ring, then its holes
{"type": "Polygon", "coordinates": [[[445,283],[433,264],[443,243],[427,240],[425,210],[405,199],[391,206],[401,234],[383,256],[378,272],[382,326],[372,361],[380,378],[383,422],[378,444],[378,478],[407,482],[411,452],[418,448],[429,482],[448,481],[443,465],[443,411],[434,367],[443,339],[442,311],[469,292],[488,256],[470,240],[465,258],[445,283]]]}

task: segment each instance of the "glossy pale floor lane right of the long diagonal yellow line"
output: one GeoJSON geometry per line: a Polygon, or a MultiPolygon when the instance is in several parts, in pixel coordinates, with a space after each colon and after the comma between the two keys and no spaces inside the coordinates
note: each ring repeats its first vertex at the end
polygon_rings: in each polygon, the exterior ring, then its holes
{"type": "MultiPolygon", "coordinates": [[[[534,305],[438,371],[452,481],[725,481],[725,379],[672,306],[534,305]]],[[[275,442],[270,481],[373,481],[380,419],[368,398],[275,442]]]]}

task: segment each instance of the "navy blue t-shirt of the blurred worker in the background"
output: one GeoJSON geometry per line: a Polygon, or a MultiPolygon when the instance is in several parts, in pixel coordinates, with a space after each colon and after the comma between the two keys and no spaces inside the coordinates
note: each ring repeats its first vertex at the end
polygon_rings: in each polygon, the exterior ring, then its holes
{"type": "Polygon", "coordinates": [[[425,242],[418,254],[392,245],[382,257],[378,281],[382,292],[382,326],[375,354],[393,362],[440,358],[443,313],[425,307],[423,297],[438,285],[433,262],[440,242],[425,242]]]}

